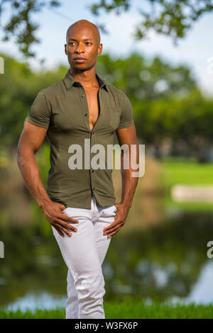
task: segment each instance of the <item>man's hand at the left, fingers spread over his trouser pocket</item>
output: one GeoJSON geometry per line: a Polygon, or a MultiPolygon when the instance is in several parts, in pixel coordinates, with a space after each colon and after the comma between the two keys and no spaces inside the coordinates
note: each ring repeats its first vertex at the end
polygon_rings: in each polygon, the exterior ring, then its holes
{"type": "Polygon", "coordinates": [[[67,230],[67,228],[75,232],[77,232],[77,228],[67,222],[79,223],[79,221],[75,220],[75,218],[70,218],[63,214],[62,211],[65,210],[65,208],[65,205],[62,205],[62,203],[55,203],[52,201],[47,205],[44,205],[41,210],[43,210],[45,218],[50,222],[50,225],[55,227],[55,230],[59,233],[60,236],[64,237],[64,234],[62,233],[63,231],[71,237],[72,234],[70,230],[67,230]]]}

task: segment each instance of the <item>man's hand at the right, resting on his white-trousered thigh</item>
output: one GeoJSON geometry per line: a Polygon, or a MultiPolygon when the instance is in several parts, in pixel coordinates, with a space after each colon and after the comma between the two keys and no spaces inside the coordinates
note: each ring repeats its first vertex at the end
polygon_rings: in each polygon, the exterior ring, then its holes
{"type": "Polygon", "coordinates": [[[117,208],[116,210],[116,220],[111,223],[108,227],[104,228],[104,235],[107,235],[107,238],[115,235],[124,225],[127,215],[129,213],[129,208],[126,207],[124,203],[115,203],[117,208]]]}

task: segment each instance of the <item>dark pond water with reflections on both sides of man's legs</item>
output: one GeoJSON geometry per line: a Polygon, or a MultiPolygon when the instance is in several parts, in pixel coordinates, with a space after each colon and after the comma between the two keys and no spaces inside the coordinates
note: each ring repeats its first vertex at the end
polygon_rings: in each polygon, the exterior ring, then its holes
{"type": "MultiPolygon", "coordinates": [[[[182,212],[148,230],[112,237],[103,264],[104,300],[211,303],[213,259],[207,257],[207,242],[213,235],[212,215],[182,212]]],[[[5,244],[1,306],[65,305],[67,267],[50,225],[45,232],[40,225],[0,228],[5,244]]]]}

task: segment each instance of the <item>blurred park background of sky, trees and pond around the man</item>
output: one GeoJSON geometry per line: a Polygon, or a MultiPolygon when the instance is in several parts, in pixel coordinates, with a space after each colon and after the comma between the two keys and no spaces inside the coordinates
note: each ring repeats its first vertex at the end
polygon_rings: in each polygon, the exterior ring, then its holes
{"type": "MultiPolygon", "coordinates": [[[[16,162],[40,89],[62,79],[67,28],[97,24],[97,73],[133,106],[145,174],[103,264],[105,300],[213,301],[212,1],[0,1],[0,306],[65,306],[67,267],[16,162]]],[[[117,143],[114,137],[114,143],[117,143]]],[[[50,149],[36,160],[46,186],[50,149]]],[[[121,174],[113,171],[116,202],[121,174]]]]}

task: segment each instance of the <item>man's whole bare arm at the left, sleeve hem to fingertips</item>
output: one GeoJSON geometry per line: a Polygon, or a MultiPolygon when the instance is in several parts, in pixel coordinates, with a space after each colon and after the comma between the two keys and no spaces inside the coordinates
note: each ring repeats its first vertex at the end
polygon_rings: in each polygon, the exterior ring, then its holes
{"type": "Polygon", "coordinates": [[[35,154],[40,149],[47,130],[47,128],[35,126],[28,123],[28,121],[24,122],[23,131],[18,141],[17,164],[28,190],[31,192],[33,198],[35,198],[35,201],[37,201],[40,209],[43,210],[45,218],[62,237],[64,236],[62,231],[71,236],[70,230],[66,228],[71,230],[75,230],[76,228],[67,222],[75,223],[78,221],[62,214],[65,205],[50,200],[40,179],[38,164],[35,160],[35,154]]]}

